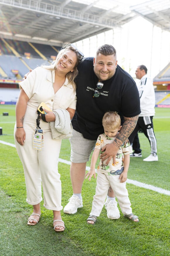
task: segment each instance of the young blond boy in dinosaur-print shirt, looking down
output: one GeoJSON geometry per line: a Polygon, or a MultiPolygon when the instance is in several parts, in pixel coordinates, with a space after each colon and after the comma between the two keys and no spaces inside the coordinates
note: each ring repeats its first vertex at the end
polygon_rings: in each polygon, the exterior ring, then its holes
{"type": "MultiPolygon", "coordinates": [[[[116,138],[118,131],[121,129],[121,120],[117,112],[106,112],[102,120],[104,133],[98,136],[95,149],[91,158],[90,171],[86,174],[86,179],[94,176],[95,165],[101,149],[108,143],[112,143],[116,138]]],[[[130,154],[132,148],[130,142],[127,139],[124,144],[119,148],[116,155],[116,163],[113,164],[113,158],[106,165],[106,160],[100,163],[97,167],[97,185],[96,194],[93,197],[92,209],[89,218],[87,219],[88,224],[94,225],[97,217],[100,215],[101,210],[106,199],[106,195],[109,187],[111,186],[115,196],[118,199],[120,208],[125,217],[129,218],[134,222],[139,222],[136,215],[132,213],[131,203],[128,197],[126,189],[127,171],[130,163],[130,154]]]]}

